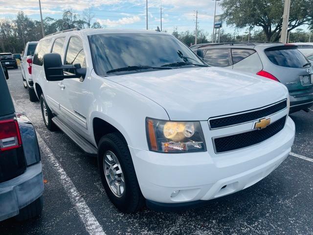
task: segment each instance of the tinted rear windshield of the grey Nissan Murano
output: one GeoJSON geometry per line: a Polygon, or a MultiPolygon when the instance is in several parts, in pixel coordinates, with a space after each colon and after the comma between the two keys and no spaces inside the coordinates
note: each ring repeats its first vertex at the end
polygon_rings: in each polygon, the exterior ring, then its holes
{"type": "Polygon", "coordinates": [[[303,68],[308,61],[296,47],[270,47],[265,54],[275,65],[288,68],[303,68]]]}

